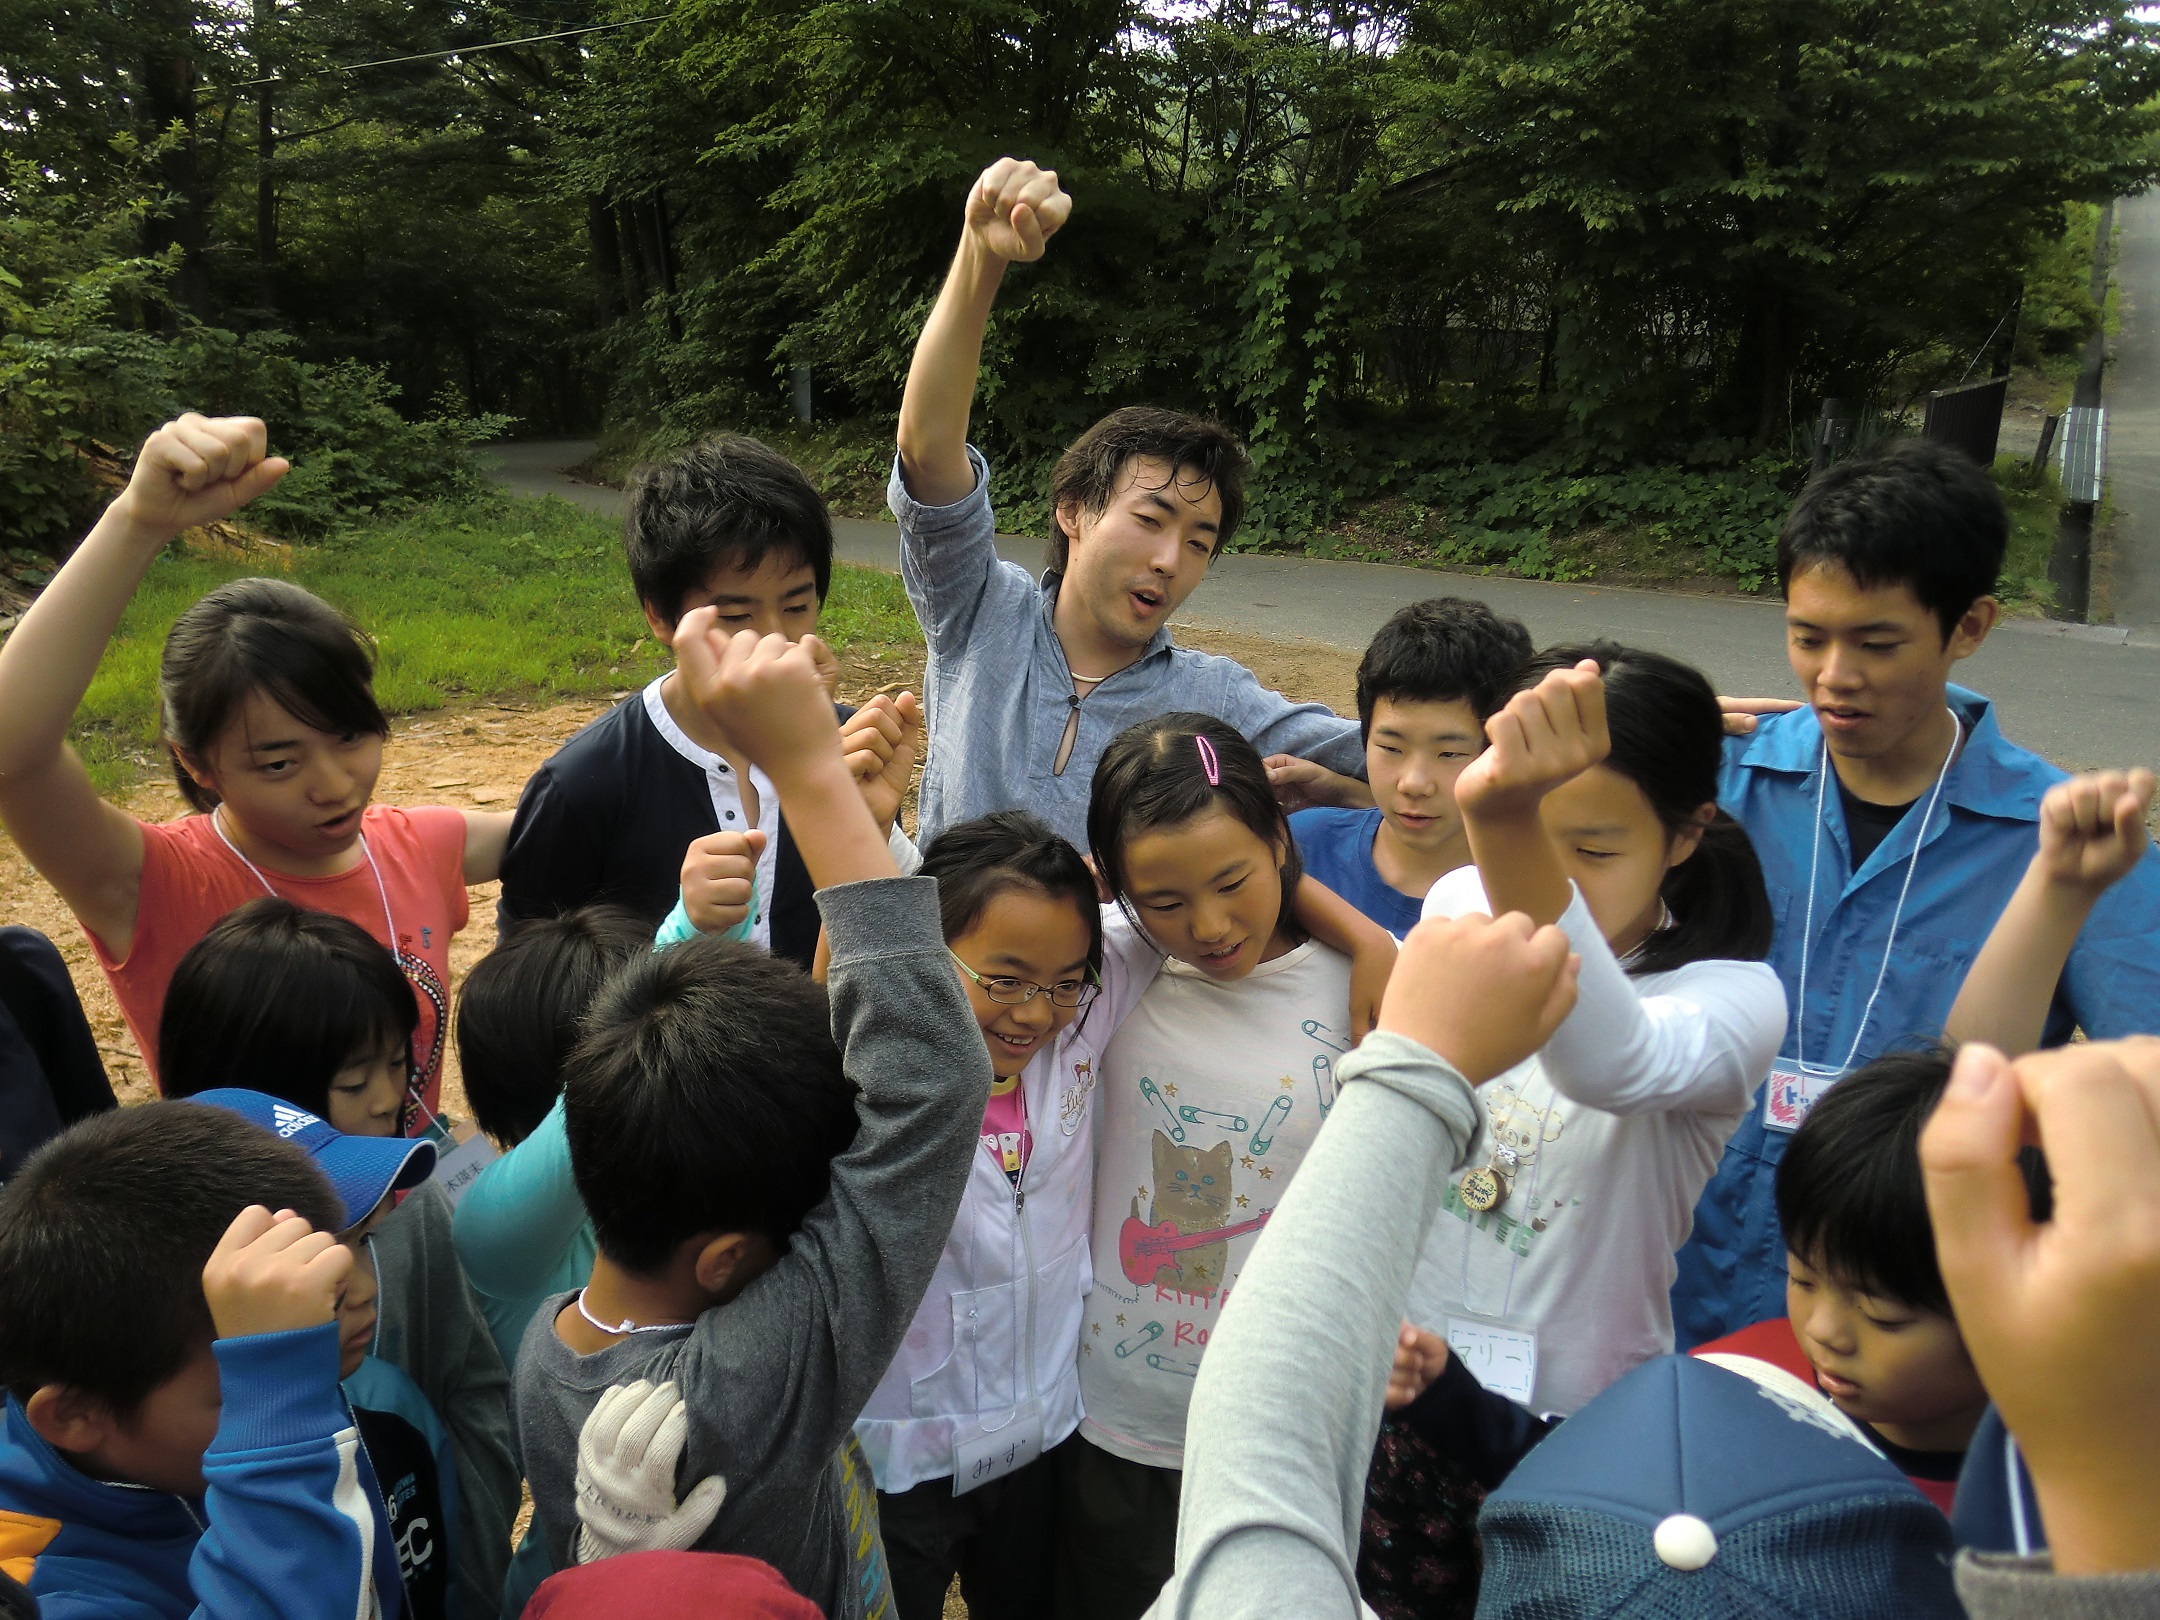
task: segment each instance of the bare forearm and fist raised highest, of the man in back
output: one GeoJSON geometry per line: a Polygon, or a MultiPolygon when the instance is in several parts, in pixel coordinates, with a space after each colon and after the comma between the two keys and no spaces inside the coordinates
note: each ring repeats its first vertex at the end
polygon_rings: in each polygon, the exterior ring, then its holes
{"type": "Polygon", "coordinates": [[[983,365],[989,307],[1013,259],[1043,257],[1071,214],[1050,168],[1000,158],[968,188],[959,253],[931,309],[901,395],[901,480],[924,505],[953,505],[974,488],[968,464],[968,406],[983,365]]]}

